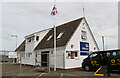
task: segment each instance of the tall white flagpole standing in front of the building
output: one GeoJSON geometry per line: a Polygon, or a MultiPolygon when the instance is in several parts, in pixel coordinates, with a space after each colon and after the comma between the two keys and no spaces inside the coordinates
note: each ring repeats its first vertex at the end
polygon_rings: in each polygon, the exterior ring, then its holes
{"type": "MultiPolygon", "coordinates": [[[[55,4],[56,5],[56,0],[55,0],[55,4]]],[[[55,60],[54,60],[54,71],[56,71],[56,15],[54,16],[54,56],[55,56],[55,60]]]]}

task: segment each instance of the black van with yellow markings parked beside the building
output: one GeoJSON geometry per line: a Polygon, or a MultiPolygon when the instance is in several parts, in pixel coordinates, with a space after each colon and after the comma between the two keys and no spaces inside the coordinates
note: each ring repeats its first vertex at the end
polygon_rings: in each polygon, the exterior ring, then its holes
{"type": "Polygon", "coordinates": [[[93,52],[83,60],[82,68],[89,71],[98,69],[100,66],[105,66],[106,60],[104,57],[108,52],[110,53],[111,69],[120,70],[120,49],[93,52]]]}

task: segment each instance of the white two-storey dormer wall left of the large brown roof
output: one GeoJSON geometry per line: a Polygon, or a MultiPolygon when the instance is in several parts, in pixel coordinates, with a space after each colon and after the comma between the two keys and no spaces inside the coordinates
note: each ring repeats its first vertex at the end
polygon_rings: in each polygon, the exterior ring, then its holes
{"type": "MultiPolygon", "coordinates": [[[[22,64],[35,65],[34,49],[39,44],[39,42],[43,39],[43,37],[49,32],[49,30],[50,29],[34,33],[35,36],[39,36],[39,41],[36,41],[36,37],[35,37],[34,41],[29,42],[29,43],[26,40],[26,42],[25,42],[25,58],[22,58],[22,64]],[[32,53],[32,55],[29,58],[27,58],[26,53],[32,53]]],[[[33,36],[33,35],[31,35],[31,36],[33,36]]]]}

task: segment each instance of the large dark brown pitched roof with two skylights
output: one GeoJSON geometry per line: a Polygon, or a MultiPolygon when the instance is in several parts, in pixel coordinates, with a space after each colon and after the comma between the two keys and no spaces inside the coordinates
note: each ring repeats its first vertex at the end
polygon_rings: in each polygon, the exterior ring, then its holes
{"type": "MultiPolygon", "coordinates": [[[[83,18],[62,24],[60,26],[56,27],[56,37],[61,33],[64,32],[62,37],[60,39],[57,39],[56,41],[56,46],[65,46],[71,36],[74,34],[75,30],[79,26],[81,20],[83,18]]],[[[53,35],[54,36],[54,29],[52,28],[47,35],[41,40],[41,42],[37,45],[37,47],[34,50],[40,50],[40,49],[45,49],[45,48],[53,48],[54,44],[54,37],[52,37],[49,41],[47,39],[49,36],[53,35]]]]}

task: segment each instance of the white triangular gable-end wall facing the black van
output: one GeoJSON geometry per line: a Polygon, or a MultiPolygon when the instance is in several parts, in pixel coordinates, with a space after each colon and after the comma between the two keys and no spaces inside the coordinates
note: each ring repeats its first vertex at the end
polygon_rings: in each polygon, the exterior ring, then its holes
{"type": "MultiPolygon", "coordinates": [[[[85,20],[82,20],[82,23],[83,22],[85,23],[85,20]]],[[[65,57],[65,69],[82,67],[81,65],[82,61],[87,56],[80,55],[80,41],[89,43],[89,51],[93,52],[98,50],[97,45],[95,44],[94,39],[91,36],[91,32],[88,29],[87,24],[85,23],[83,26],[82,23],[80,23],[77,30],[73,34],[72,38],[69,40],[68,44],[66,45],[66,51],[78,51],[78,58],[66,59],[65,57]],[[83,29],[83,27],[85,27],[85,29],[83,29]],[[81,39],[81,30],[85,30],[87,32],[87,40],[81,39]],[[73,48],[71,48],[71,45],[74,45],[73,48]],[[94,50],[94,47],[96,47],[96,50],[94,50]]]]}

